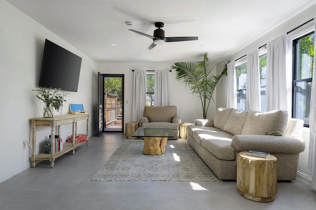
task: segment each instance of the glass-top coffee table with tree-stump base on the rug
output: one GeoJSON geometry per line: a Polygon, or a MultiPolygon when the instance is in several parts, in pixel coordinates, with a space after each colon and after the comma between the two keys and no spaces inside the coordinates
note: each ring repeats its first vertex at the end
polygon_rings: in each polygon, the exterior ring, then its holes
{"type": "Polygon", "coordinates": [[[168,137],[173,137],[173,134],[169,128],[139,127],[132,137],[144,138],[143,153],[145,155],[161,155],[165,153],[168,137]]]}

